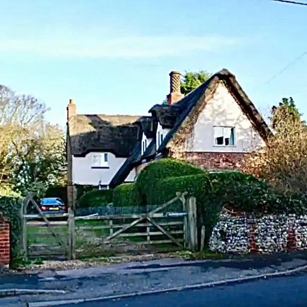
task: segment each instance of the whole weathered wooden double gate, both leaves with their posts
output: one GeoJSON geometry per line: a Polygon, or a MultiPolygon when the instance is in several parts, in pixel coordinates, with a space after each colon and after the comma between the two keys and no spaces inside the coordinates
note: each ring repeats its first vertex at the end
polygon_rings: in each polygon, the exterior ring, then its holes
{"type": "Polygon", "coordinates": [[[24,255],[26,258],[75,259],[111,255],[118,247],[119,253],[129,248],[141,252],[143,247],[146,251],[160,251],[161,246],[196,250],[196,203],[195,198],[186,201],[186,194],[179,192],[176,198],[147,213],[100,216],[74,216],[71,208],[63,214],[43,213],[28,194],[21,211],[24,255]],[[27,214],[30,203],[37,213],[27,214]],[[181,209],[170,208],[176,203],[181,204],[181,209]],[[95,235],[91,235],[93,233],[95,235]]]}

